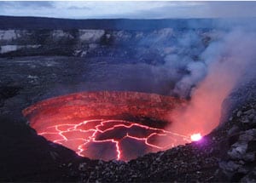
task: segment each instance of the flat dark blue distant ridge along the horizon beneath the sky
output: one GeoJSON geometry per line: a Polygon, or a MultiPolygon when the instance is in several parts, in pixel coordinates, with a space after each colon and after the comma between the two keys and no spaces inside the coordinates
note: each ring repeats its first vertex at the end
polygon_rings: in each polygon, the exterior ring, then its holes
{"type": "Polygon", "coordinates": [[[172,28],[209,28],[212,19],[163,19],[163,20],[71,20],[41,17],[1,16],[0,29],[105,29],[149,31],[172,28]]]}

